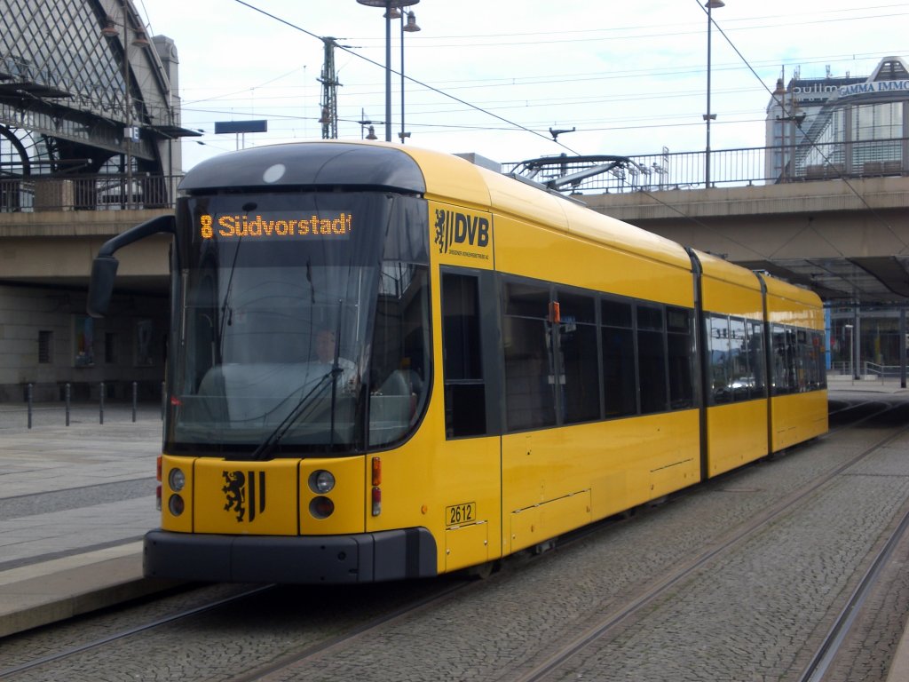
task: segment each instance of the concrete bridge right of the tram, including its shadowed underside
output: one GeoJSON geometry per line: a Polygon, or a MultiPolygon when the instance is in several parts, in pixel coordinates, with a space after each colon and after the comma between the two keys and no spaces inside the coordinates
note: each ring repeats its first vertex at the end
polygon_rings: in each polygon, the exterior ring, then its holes
{"type": "Polygon", "coordinates": [[[909,177],[579,196],[596,211],[808,286],[825,301],[909,300],[909,177]]]}

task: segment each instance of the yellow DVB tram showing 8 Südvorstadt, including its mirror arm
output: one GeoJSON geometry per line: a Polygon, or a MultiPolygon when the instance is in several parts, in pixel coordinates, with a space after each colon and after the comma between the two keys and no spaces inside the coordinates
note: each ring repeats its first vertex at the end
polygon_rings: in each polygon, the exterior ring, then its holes
{"type": "Polygon", "coordinates": [[[824,433],[810,292],[411,146],[218,156],[171,233],[145,573],[348,583],[541,547],[824,433]]]}

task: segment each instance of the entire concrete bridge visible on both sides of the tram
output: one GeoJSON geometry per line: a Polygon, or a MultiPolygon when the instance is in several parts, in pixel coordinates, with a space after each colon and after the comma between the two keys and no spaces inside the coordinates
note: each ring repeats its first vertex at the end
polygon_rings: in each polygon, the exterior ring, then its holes
{"type": "MultiPolygon", "coordinates": [[[[826,301],[909,300],[909,177],[578,196],[596,211],[809,286],[826,301]]],[[[6,282],[85,287],[106,239],[168,209],[0,213],[6,282]]],[[[165,294],[169,237],[118,252],[118,287],[165,294]]]]}

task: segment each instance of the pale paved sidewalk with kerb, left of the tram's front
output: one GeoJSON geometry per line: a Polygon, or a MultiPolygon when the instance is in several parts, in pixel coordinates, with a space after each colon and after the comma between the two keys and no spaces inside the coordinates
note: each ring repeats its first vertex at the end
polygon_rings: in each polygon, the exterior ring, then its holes
{"type": "Polygon", "coordinates": [[[0,405],[0,637],[168,587],[142,577],[159,523],[160,406],[0,405]]]}

